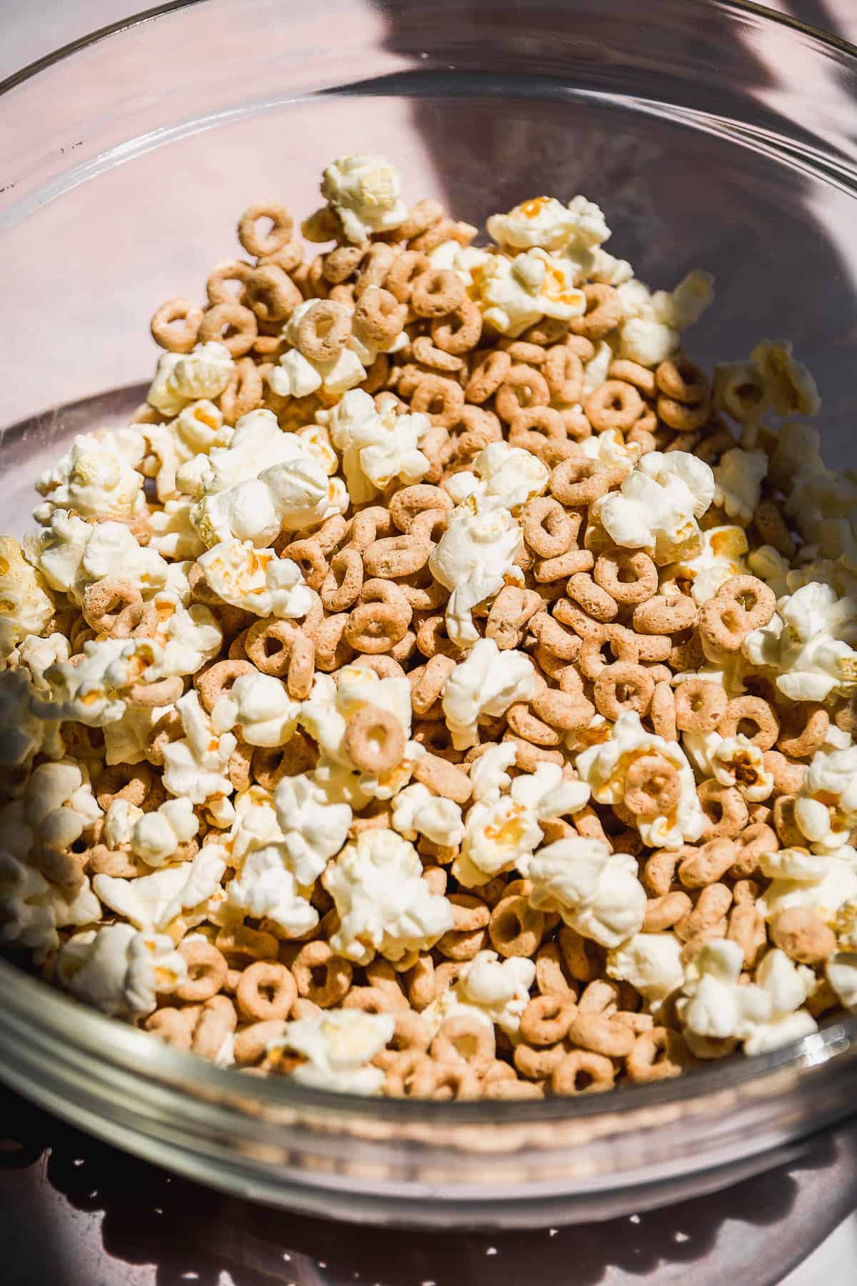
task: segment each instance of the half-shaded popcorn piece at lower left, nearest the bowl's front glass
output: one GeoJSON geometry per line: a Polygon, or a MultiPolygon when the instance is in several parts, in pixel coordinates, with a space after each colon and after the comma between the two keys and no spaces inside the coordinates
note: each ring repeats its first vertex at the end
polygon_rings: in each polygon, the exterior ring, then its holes
{"type": "Polygon", "coordinates": [[[166,934],[141,934],[131,925],[104,925],[75,934],[59,950],[57,979],[78,1001],[110,1017],[143,1017],[188,976],[188,966],[166,934]]]}

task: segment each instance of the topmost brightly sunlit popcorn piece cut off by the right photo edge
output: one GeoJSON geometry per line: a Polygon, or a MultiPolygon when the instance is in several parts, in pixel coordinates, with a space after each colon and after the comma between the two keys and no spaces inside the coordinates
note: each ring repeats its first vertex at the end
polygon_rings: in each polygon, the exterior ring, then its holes
{"type": "Polygon", "coordinates": [[[830,585],[811,581],[779,599],[762,629],[741,646],[752,665],[776,670],[775,683],[790,701],[824,701],[857,689],[857,598],[839,598],[830,585]]]}

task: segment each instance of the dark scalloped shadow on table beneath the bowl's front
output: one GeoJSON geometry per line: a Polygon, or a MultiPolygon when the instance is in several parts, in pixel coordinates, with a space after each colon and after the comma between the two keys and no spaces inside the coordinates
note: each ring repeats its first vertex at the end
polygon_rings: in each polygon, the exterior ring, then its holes
{"type": "MultiPolygon", "coordinates": [[[[626,1281],[626,1274],[650,1276],[658,1268],[676,1280],[682,1265],[693,1272],[687,1280],[694,1286],[705,1286],[709,1280],[722,1281],[722,1258],[717,1274],[704,1260],[727,1220],[740,1226],[730,1240],[741,1246],[738,1263],[763,1262],[753,1256],[759,1254],[764,1229],[773,1224],[780,1226],[780,1245],[785,1236],[798,1247],[793,1258],[808,1253],[831,1224],[818,1227],[817,1211],[811,1226],[793,1219],[799,1179],[830,1166],[836,1156],[830,1138],[822,1139],[788,1168],[725,1193],[678,1202],[668,1215],[653,1211],[586,1227],[515,1233],[414,1233],[328,1223],[225,1197],[126,1156],[9,1093],[0,1110],[0,1170],[36,1166],[49,1148],[39,1182],[46,1181],[80,1211],[103,1211],[104,1251],[125,1265],[154,1264],[157,1286],[188,1281],[220,1286],[224,1269],[234,1286],[487,1286],[497,1281],[529,1286],[536,1276],[542,1286],[595,1286],[626,1281]],[[800,1236],[803,1246],[795,1241],[800,1236]]],[[[62,1237],[57,1229],[62,1229],[59,1220],[53,1236],[62,1237]]],[[[51,1236],[50,1227],[45,1236],[51,1236]]],[[[89,1236],[96,1246],[98,1228],[89,1236]]],[[[62,1262],[62,1246],[53,1249],[62,1262]]],[[[125,1265],[117,1264],[116,1281],[134,1282],[125,1265]]],[[[758,1286],[768,1281],[762,1268],[754,1281],[758,1286]]],[[[113,1278],[105,1278],[104,1286],[113,1286],[113,1278]]]]}

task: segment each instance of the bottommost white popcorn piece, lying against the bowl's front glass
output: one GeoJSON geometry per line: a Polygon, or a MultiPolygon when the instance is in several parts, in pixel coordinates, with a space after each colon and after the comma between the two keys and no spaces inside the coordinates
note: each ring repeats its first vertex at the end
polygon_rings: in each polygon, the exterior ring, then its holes
{"type": "Polygon", "coordinates": [[[392,1040],[393,1028],[391,1013],[322,1010],[287,1022],[269,1052],[292,1049],[303,1055],[306,1062],[292,1071],[302,1085],[344,1094],[379,1094],[384,1073],[371,1060],[392,1040]]]}

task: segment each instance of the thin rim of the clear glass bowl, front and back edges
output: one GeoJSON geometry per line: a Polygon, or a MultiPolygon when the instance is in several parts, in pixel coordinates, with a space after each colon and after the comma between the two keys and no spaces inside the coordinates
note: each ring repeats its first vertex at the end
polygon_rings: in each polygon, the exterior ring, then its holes
{"type": "MultiPolygon", "coordinates": [[[[98,27],[26,64],[0,81],[0,95],[26,84],[67,58],[90,49],[114,35],[132,31],[144,23],[203,4],[204,0],[168,0],[143,9],[117,22],[98,27]]],[[[700,6],[722,10],[732,17],[750,15],[762,24],[782,27],[808,36],[813,42],[836,55],[857,60],[857,45],[809,23],[793,18],[754,0],[698,0],[700,6]]],[[[231,1067],[182,1053],[166,1043],[153,1040],[149,1033],[91,1010],[72,997],[54,990],[30,976],[22,967],[0,958],[0,1031],[22,1034],[32,1022],[45,1024],[51,1037],[82,1056],[107,1058],[117,1071],[141,1076],[167,1094],[188,1093],[198,1087],[199,1097],[212,1106],[256,1101],[265,1109],[305,1109],[311,1112],[333,1110],[340,1118],[375,1116],[380,1120],[411,1124],[549,1124],[556,1120],[583,1120],[592,1116],[614,1118],[628,1109],[645,1110],[667,1105],[691,1103],[721,1091],[745,1088],[776,1073],[799,1073],[839,1058],[857,1047],[857,1013],[844,1015],[827,1028],[793,1040],[767,1053],[747,1057],[732,1055],[725,1060],[695,1069],[676,1080],[628,1085],[609,1094],[588,1094],[538,1101],[505,1101],[501,1121],[495,1102],[432,1102],[425,1100],[366,1098],[316,1089],[296,1083],[292,1078],[247,1078],[231,1067]],[[5,1011],[5,1012],[4,1012],[5,1011]],[[239,1092],[240,1091],[240,1096],[239,1092]]],[[[1,1067],[0,1067],[1,1075],[1,1067]]],[[[33,1094],[35,1097],[35,1094],[33,1094]]]]}

